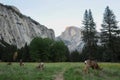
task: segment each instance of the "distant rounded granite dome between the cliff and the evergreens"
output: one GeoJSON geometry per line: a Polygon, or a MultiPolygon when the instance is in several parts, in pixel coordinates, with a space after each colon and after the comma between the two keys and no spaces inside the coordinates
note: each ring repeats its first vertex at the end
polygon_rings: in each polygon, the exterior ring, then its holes
{"type": "Polygon", "coordinates": [[[84,46],[81,37],[82,34],[80,28],[70,26],[67,27],[59,37],[57,37],[57,40],[62,40],[68,46],[70,52],[74,50],[81,52],[84,46]]]}

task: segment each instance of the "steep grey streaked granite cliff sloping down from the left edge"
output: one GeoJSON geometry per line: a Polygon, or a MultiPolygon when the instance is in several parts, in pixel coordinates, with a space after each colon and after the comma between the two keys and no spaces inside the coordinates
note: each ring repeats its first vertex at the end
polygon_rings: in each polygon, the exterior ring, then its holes
{"type": "Polygon", "coordinates": [[[21,14],[14,6],[0,4],[0,39],[21,48],[34,37],[55,39],[52,29],[21,14]]]}

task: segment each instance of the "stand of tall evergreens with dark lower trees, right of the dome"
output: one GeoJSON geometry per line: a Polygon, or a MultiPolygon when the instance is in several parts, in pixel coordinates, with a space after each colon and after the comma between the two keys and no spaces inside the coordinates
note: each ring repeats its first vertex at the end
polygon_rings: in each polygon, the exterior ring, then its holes
{"type": "Polygon", "coordinates": [[[91,10],[86,10],[83,20],[82,54],[85,58],[99,61],[120,61],[120,28],[113,11],[107,6],[103,14],[101,32],[96,31],[96,24],[91,10]]]}

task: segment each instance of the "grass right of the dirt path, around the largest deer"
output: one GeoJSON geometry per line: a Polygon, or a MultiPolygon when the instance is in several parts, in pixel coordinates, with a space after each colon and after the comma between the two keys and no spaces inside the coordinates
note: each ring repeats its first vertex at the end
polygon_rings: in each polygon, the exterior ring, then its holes
{"type": "Polygon", "coordinates": [[[83,64],[71,67],[64,73],[65,80],[120,80],[119,63],[99,63],[102,71],[89,69],[89,73],[83,72],[83,64]]]}

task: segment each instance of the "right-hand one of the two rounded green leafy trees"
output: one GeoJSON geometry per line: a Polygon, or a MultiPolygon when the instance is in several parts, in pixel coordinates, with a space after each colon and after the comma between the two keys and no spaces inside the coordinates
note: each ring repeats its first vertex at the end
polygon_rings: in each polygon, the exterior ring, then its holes
{"type": "Polygon", "coordinates": [[[67,54],[69,54],[68,48],[62,41],[55,41],[50,47],[50,55],[53,62],[66,61],[67,54]]]}

